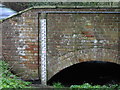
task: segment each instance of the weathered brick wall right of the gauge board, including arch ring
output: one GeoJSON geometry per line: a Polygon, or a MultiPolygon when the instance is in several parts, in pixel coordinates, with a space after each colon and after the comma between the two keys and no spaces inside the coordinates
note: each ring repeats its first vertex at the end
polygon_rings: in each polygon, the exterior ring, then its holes
{"type": "Polygon", "coordinates": [[[48,14],[47,19],[48,73],[85,61],[120,63],[118,14],[48,14]]]}

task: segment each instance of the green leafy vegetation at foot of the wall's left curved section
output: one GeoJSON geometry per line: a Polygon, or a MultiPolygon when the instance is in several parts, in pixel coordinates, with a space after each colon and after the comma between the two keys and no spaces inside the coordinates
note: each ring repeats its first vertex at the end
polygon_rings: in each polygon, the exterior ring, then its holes
{"type": "Polygon", "coordinates": [[[1,88],[30,88],[30,82],[19,80],[8,68],[8,64],[0,60],[0,89],[1,88]]]}

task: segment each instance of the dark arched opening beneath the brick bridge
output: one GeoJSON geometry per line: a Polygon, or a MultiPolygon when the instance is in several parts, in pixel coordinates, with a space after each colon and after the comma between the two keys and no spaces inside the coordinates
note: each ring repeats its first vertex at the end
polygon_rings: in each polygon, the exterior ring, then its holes
{"type": "Polygon", "coordinates": [[[65,86],[81,85],[108,85],[120,83],[120,65],[104,61],[87,61],[74,64],[55,74],[48,85],[60,82],[65,86]]]}

